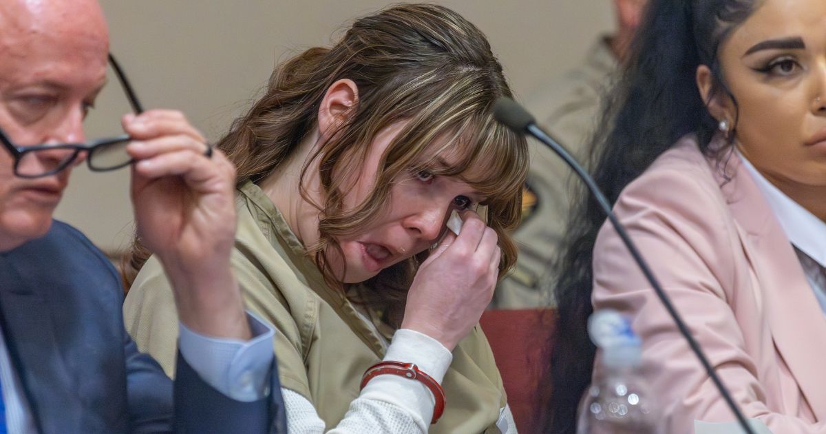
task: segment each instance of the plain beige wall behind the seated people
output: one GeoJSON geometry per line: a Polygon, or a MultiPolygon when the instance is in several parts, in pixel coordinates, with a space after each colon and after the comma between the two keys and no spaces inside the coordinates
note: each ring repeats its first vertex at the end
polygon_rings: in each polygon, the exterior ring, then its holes
{"type": "MultiPolygon", "coordinates": [[[[329,45],[378,0],[102,0],[112,52],[145,107],[174,107],[215,140],[296,50],[329,45]]],[[[439,2],[485,31],[518,94],[576,64],[596,35],[613,27],[610,0],[453,0],[439,2]]],[[[119,131],[129,110],[114,79],[88,119],[88,136],[119,131]]],[[[104,250],[131,237],[128,170],[75,169],[57,217],[104,250]]]]}

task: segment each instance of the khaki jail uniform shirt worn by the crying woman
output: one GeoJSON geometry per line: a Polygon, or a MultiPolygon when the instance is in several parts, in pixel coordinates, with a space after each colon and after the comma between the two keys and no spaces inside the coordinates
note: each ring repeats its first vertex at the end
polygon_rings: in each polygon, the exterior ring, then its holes
{"type": "MultiPolygon", "coordinates": [[[[325,284],[281,212],[257,185],[240,188],[237,207],[232,267],[247,308],[278,329],[274,339],[281,385],[313,403],[327,427],[335,427],[358,397],[364,371],[382,360],[390,336],[377,330],[388,327],[368,322],[343,293],[325,284]]],[[[124,318],[140,350],[172,374],[178,317],[172,290],[154,258],[135,279],[124,318]]],[[[453,350],[442,386],[447,405],[430,432],[499,432],[495,423],[506,395],[480,327],[453,350]]]]}

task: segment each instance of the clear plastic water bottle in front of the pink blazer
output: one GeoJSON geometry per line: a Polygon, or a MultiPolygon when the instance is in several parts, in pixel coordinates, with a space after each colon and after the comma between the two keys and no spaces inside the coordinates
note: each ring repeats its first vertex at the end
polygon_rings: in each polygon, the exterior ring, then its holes
{"type": "Polygon", "coordinates": [[[601,370],[579,406],[577,434],[659,433],[660,414],[640,372],[640,340],[628,320],[606,309],[588,319],[591,341],[601,350],[601,370]]]}

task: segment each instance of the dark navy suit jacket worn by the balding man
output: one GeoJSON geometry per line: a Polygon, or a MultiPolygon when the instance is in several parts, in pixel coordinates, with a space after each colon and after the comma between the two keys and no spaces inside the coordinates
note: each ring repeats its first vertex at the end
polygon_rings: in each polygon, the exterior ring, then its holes
{"type": "Polygon", "coordinates": [[[73,227],[0,253],[0,327],[43,433],[286,433],[278,371],[269,398],[240,403],[178,355],[176,380],[126,333],[112,264],[73,227]]]}

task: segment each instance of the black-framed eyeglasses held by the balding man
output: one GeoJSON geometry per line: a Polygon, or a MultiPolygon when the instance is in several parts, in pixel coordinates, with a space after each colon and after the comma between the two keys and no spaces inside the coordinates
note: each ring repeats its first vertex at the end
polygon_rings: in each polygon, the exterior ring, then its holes
{"type": "MultiPolygon", "coordinates": [[[[131,83],[129,83],[129,80],[126,79],[126,74],[123,73],[123,70],[121,69],[121,65],[117,63],[117,61],[115,60],[115,57],[112,56],[112,53],[109,53],[109,64],[112,65],[112,69],[115,71],[115,75],[117,77],[117,80],[118,80],[118,82],[121,83],[121,88],[123,88],[124,93],[126,93],[126,98],[129,99],[129,103],[132,107],[132,110],[135,112],[135,114],[142,113],[144,111],[143,106],[140,105],[140,102],[138,101],[138,98],[135,96],[135,91],[132,89],[131,83]]],[[[92,156],[92,154],[94,153],[95,150],[100,150],[100,149],[104,148],[107,145],[112,145],[112,144],[115,144],[115,143],[119,143],[119,142],[123,142],[123,141],[129,141],[129,140],[131,140],[131,138],[128,134],[122,134],[121,136],[106,137],[106,138],[102,138],[102,139],[88,141],[86,143],[56,143],[56,144],[52,144],[52,145],[19,146],[19,145],[15,145],[12,142],[12,140],[9,139],[8,136],[6,136],[6,133],[4,131],[2,131],[2,129],[0,129],[0,142],[2,142],[2,144],[6,147],[6,149],[9,151],[9,153],[12,154],[12,157],[14,158],[14,174],[16,176],[20,177],[20,178],[29,178],[29,179],[49,176],[49,175],[52,175],[52,174],[56,174],[56,173],[58,173],[59,171],[61,171],[63,169],[66,169],[69,165],[72,164],[72,162],[74,162],[74,160],[76,160],[78,158],[78,155],[84,150],[88,151],[88,153],[89,153],[89,158],[86,160],[86,163],[87,163],[89,169],[94,170],[96,172],[105,172],[105,171],[108,171],[108,170],[120,169],[121,167],[131,165],[134,162],[134,160],[130,159],[129,161],[126,161],[122,165],[116,165],[116,166],[105,167],[105,168],[95,167],[92,164],[93,159],[91,158],[91,156],[92,156]],[[59,150],[59,149],[74,150],[74,154],[72,154],[64,162],[60,163],[60,165],[55,167],[55,169],[51,169],[51,170],[49,170],[49,171],[47,171],[43,174],[36,174],[36,175],[21,174],[18,171],[17,168],[20,165],[20,161],[23,159],[23,157],[26,154],[29,154],[31,152],[41,151],[41,150],[59,150]]],[[[209,151],[209,150],[211,150],[211,148],[207,148],[207,151],[209,151]]]]}

